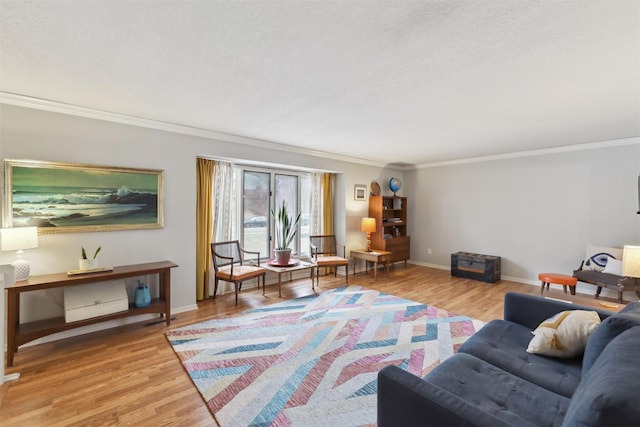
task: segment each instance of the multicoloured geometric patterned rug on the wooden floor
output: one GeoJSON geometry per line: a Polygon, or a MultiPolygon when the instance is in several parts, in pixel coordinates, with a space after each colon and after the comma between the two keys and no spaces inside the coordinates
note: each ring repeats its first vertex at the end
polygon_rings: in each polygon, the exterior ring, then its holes
{"type": "Polygon", "coordinates": [[[424,376],[484,325],[348,286],[166,333],[222,427],[376,423],[377,373],[424,376]]]}

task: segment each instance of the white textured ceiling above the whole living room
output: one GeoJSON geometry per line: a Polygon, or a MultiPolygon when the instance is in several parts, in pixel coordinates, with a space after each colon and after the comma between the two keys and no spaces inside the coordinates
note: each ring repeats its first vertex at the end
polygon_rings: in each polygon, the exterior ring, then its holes
{"type": "Polygon", "coordinates": [[[640,0],[0,2],[0,90],[380,163],[640,135],[640,0]]]}

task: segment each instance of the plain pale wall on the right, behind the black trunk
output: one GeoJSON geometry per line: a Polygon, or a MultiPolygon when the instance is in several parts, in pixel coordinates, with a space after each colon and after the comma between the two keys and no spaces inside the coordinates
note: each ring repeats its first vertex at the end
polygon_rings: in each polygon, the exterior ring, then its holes
{"type": "Polygon", "coordinates": [[[539,272],[571,274],[588,243],[640,243],[640,138],[624,142],[405,172],[412,260],[499,255],[503,277],[535,283],[539,272]]]}

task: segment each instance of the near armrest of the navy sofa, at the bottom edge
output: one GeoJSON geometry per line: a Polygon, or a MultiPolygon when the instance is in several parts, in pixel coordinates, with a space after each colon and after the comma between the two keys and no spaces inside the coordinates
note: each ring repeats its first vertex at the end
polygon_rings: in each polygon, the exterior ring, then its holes
{"type": "Polygon", "coordinates": [[[378,372],[378,427],[504,427],[504,421],[397,366],[378,372]]]}

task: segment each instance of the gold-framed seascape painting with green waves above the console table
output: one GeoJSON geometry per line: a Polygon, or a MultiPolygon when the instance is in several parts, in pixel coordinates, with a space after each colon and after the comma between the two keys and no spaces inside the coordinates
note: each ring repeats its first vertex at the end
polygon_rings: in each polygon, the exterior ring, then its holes
{"type": "Polygon", "coordinates": [[[4,227],[40,233],[162,228],[162,170],[4,161],[4,227]]]}

